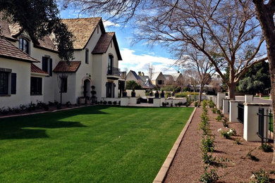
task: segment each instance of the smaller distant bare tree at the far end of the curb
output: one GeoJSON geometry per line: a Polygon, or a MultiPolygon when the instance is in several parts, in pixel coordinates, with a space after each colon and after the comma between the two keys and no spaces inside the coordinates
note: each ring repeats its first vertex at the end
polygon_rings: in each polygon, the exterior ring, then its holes
{"type": "MultiPolygon", "coordinates": [[[[192,51],[188,56],[182,56],[181,60],[178,61],[178,65],[183,68],[188,68],[191,71],[191,80],[193,83],[200,84],[199,103],[202,101],[202,91],[205,84],[209,84],[212,75],[214,75],[215,68],[211,61],[206,56],[200,55],[197,51],[192,51]],[[193,75],[196,75],[194,78],[193,75]]],[[[193,86],[195,87],[195,86],[193,86]]]]}

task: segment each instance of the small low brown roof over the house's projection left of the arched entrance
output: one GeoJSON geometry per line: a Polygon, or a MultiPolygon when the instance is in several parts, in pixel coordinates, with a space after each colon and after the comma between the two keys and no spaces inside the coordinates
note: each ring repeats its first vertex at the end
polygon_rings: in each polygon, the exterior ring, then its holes
{"type": "Polygon", "coordinates": [[[60,61],[56,68],[54,68],[54,72],[76,72],[81,64],[81,61],[60,61]]]}

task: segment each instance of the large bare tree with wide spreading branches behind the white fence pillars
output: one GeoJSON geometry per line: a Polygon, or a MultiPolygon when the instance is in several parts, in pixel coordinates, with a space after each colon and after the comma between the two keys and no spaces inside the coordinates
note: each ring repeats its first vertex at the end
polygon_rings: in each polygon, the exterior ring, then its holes
{"type": "MultiPolygon", "coordinates": [[[[221,0],[63,0],[83,11],[109,13],[114,20],[133,18],[136,37],[186,51],[193,47],[211,61],[235,98],[236,84],[247,70],[264,58],[264,39],[252,1],[221,0]],[[230,77],[223,70],[230,68],[230,77]]],[[[105,13],[105,15],[106,15],[105,13]]]]}

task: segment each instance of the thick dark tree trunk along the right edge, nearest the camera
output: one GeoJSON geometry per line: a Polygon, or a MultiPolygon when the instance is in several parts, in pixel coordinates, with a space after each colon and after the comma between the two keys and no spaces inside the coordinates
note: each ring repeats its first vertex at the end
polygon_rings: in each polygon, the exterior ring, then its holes
{"type": "MultiPolygon", "coordinates": [[[[257,14],[257,20],[262,27],[264,39],[267,45],[267,58],[269,60],[269,73],[271,80],[271,97],[272,97],[272,111],[275,116],[275,25],[274,25],[274,13],[275,13],[275,1],[269,0],[252,0],[255,4],[255,10],[257,14]]],[[[275,118],[273,118],[273,132],[275,132],[275,118]]],[[[274,146],[275,146],[275,135],[274,146]]],[[[275,163],[275,151],[272,163],[275,163]]]]}

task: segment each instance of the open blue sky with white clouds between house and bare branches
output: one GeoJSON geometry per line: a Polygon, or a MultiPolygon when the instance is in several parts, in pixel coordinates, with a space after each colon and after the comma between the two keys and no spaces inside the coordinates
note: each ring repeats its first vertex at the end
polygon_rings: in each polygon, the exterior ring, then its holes
{"type": "MultiPolygon", "coordinates": [[[[87,18],[90,15],[79,13],[73,9],[67,8],[60,12],[61,18],[87,18]]],[[[121,50],[123,61],[119,61],[121,70],[142,71],[147,74],[149,65],[152,64],[154,72],[163,72],[164,74],[176,73],[171,65],[175,62],[170,53],[162,46],[148,46],[146,42],[131,44],[133,37],[133,28],[128,25],[118,25],[111,21],[104,21],[107,32],[116,32],[116,39],[121,50]]]]}

